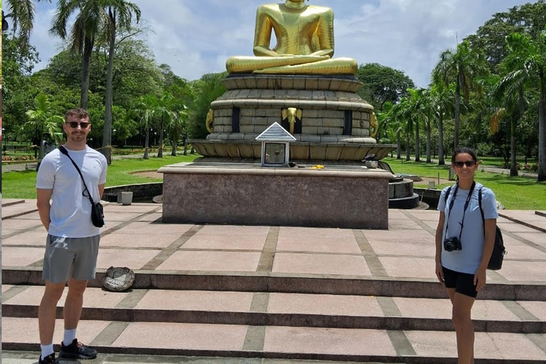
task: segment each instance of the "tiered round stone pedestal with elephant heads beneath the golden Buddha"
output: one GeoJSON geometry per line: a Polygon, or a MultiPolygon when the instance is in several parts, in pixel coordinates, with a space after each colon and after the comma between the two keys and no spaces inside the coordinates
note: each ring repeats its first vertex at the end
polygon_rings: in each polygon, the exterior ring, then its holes
{"type": "MultiPolygon", "coordinates": [[[[395,148],[370,137],[373,107],[356,94],[362,85],[353,76],[230,75],[228,89],[212,102],[213,133],[192,141],[203,156],[259,158],[255,138],[274,122],[283,124],[282,109],[301,109],[296,119],[294,159],[379,160],[395,148]]],[[[286,121],[285,121],[286,124],[286,121]]]]}

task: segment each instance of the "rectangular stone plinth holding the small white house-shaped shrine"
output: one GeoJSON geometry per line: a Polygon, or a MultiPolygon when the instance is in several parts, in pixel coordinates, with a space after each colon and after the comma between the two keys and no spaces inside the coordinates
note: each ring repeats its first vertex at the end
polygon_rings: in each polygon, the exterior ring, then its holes
{"type": "Polygon", "coordinates": [[[382,169],[174,164],[164,173],[164,223],[388,228],[382,169]]]}

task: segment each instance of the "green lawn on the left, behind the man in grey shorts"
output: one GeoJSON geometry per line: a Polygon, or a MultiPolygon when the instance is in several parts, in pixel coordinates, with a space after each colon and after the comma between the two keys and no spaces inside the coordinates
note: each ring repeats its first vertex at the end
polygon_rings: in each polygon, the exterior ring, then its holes
{"type": "MultiPolygon", "coordinates": [[[[161,166],[181,162],[190,162],[198,158],[193,156],[171,156],[150,159],[114,159],[108,166],[106,186],[119,186],[133,183],[161,182],[161,178],[135,176],[136,171],[156,171],[161,166]]],[[[4,198],[36,198],[36,171],[2,173],[2,196],[4,198]]]]}

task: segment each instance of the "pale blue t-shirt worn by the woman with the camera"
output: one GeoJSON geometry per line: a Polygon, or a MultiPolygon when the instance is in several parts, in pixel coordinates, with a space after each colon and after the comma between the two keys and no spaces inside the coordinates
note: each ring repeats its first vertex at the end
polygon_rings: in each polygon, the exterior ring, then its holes
{"type": "Polygon", "coordinates": [[[444,222],[444,232],[441,237],[441,265],[455,272],[468,274],[476,273],[480,266],[481,257],[483,255],[483,245],[485,236],[483,235],[483,223],[481,220],[480,205],[478,202],[478,191],[481,188],[481,206],[483,208],[483,218],[496,219],[498,218],[497,203],[495,194],[489,188],[483,187],[481,183],[476,182],[472,197],[469,201],[469,207],[464,214],[464,227],[461,234],[462,250],[454,250],[446,252],[444,250],[444,240],[447,237],[459,237],[461,232],[461,223],[463,218],[464,203],[469,196],[470,190],[462,190],[459,188],[451,214],[449,214],[449,204],[455,192],[455,186],[451,188],[449,196],[446,198],[446,191],[449,187],[441,191],[440,200],[438,202],[438,210],[444,211],[446,220],[444,222]],[[447,218],[449,216],[449,231],[446,232],[447,218]]]}

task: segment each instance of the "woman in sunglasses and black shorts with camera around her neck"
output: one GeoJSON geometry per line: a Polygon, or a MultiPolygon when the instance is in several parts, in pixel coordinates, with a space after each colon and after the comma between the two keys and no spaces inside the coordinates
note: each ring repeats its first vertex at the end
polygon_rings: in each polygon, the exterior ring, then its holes
{"type": "Polygon", "coordinates": [[[472,149],[456,149],[451,167],[457,174],[457,182],[441,191],[438,203],[436,275],[453,304],[459,364],[474,362],[471,309],[478,291],[486,285],[486,269],[493,252],[498,218],[495,195],[474,181],[478,165],[472,149]],[[478,202],[480,190],[485,227],[478,202]]]}

